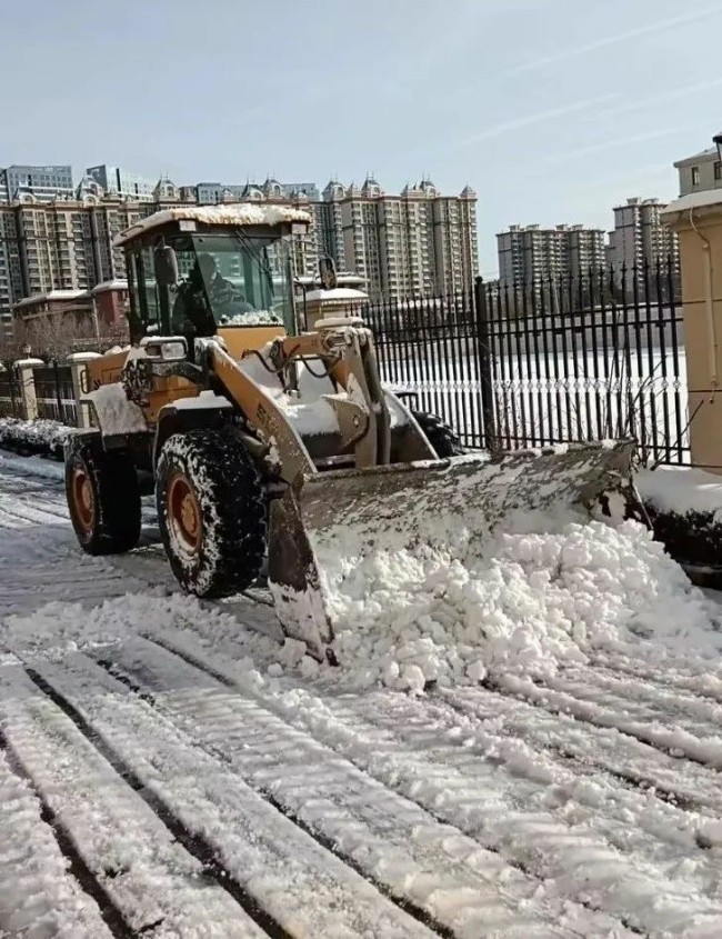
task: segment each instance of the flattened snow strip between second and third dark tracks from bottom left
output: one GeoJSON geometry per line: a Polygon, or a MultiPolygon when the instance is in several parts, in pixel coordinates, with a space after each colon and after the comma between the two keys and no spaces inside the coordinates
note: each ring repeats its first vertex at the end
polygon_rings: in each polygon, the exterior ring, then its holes
{"type": "Polygon", "coordinates": [[[26,665],[38,687],[106,751],[133,788],[141,787],[139,793],[181,843],[192,840],[203,847],[205,858],[223,871],[225,889],[243,891],[262,912],[269,935],[290,937],[294,927],[301,935],[329,939],[435,935],[321,850],[94,662],[76,655],[62,665],[36,668],[26,665]],[[289,865],[292,869],[284,869],[289,865]]]}

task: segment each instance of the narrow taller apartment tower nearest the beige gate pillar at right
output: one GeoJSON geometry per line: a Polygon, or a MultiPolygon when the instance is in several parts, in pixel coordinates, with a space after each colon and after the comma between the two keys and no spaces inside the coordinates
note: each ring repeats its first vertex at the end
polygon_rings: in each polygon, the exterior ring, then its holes
{"type": "Polygon", "coordinates": [[[622,268],[636,268],[641,273],[645,263],[654,264],[671,257],[679,263],[676,234],[662,223],[664,203],[659,199],[634,197],[626,204],[614,208],[614,230],[609,233],[608,261],[618,273],[622,268]]]}

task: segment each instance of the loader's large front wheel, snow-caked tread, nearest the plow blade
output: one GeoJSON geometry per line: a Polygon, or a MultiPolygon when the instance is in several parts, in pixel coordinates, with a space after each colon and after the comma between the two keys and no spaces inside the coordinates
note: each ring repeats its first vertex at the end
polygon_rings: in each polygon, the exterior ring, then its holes
{"type": "Polygon", "coordinates": [[[163,444],[156,476],[160,533],[176,579],[197,597],[228,597],[261,571],[261,477],[232,431],[190,430],[163,444]]]}

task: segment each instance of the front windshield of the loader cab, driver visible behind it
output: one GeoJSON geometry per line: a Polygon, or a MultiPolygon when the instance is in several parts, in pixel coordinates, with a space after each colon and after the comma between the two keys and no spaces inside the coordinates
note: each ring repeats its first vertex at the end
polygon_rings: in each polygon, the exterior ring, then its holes
{"type": "Polygon", "coordinates": [[[174,332],[210,336],[218,327],[292,327],[289,247],[284,239],[189,234],[169,242],[179,282],[171,294],[174,332]]]}

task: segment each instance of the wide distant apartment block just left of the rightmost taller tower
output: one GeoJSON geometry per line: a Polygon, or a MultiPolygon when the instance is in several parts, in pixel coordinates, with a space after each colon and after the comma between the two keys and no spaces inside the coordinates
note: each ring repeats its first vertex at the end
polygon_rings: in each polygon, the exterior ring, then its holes
{"type": "Polygon", "coordinates": [[[497,236],[499,279],[531,284],[546,278],[583,278],[604,263],[604,232],[581,224],[512,224],[497,236]]]}

